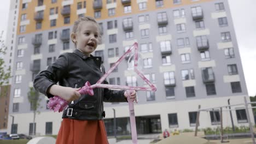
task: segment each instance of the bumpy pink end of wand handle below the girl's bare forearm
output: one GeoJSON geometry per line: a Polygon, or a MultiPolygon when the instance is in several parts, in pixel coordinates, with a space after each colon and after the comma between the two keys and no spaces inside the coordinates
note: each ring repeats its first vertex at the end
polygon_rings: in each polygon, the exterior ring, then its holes
{"type": "Polygon", "coordinates": [[[66,109],[67,105],[68,102],[65,99],[62,99],[58,96],[54,96],[53,98],[49,99],[48,108],[54,110],[54,112],[61,112],[66,109]]]}

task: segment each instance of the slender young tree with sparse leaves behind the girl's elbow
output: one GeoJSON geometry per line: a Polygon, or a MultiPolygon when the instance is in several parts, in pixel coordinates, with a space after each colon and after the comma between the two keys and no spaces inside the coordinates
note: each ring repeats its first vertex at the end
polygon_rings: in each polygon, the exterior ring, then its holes
{"type": "Polygon", "coordinates": [[[28,98],[28,101],[30,102],[31,110],[33,111],[33,114],[34,114],[32,133],[33,135],[36,135],[34,121],[36,120],[36,112],[38,112],[38,114],[40,113],[39,107],[40,107],[41,99],[39,97],[39,92],[37,92],[36,89],[34,89],[33,87],[30,87],[30,91],[27,93],[27,98],[28,98]]]}

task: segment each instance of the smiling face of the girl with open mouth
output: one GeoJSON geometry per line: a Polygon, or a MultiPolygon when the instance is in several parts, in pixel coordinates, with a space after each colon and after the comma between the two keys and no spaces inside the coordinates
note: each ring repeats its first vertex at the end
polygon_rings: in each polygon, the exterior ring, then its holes
{"type": "Polygon", "coordinates": [[[91,21],[83,21],[79,23],[78,28],[78,32],[73,35],[72,39],[78,50],[86,56],[90,56],[90,53],[94,52],[98,45],[97,25],[91,21]]]}

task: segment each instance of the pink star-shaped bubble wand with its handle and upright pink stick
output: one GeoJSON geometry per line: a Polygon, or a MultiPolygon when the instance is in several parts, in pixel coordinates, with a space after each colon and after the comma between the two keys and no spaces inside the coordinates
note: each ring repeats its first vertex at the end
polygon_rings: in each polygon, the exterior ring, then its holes
{"type": "MultiPolygon", "coordinates": [[[[130,99],[131,91],[156,91],[156,87],[151,83],[143,74],[141,71],[137,69],[138,66],[138,43],[134,43],[129,50],[127,50],[123,56],[121,56],[117,62],[115,62],[112,67],[101,77],[100,80],[98,80],[94,85],[90,85],[90,82],[87,81],[85,83],[85,86],[82,87],[78,92],[80,94],[89,94],[94,95],[94,88],[111,88],[111,89],[126,89],[128,90],[127,93],[127,100],[129,103],[129,112],[130,112],[130,123],[131,123],[131,134],[132,134],[132,143],[137,144],[137,131],[136,131],[136,122],[135,122],[135,111],[134,111],[134,105],[133,101],[130,99]],[[102,84],[102,82],[107,78],[107,76],[120,64],[121,61],[124,60],[124,58],[129,55],[129,53],[132,52],[132,50],[135,49],[134,57],[134,70],[138,74],[139,77],[143,81],[145,81],[149,87],[130,87],[130,86],[119,86],[119,85],[106,85],[102,84]]],[[[67,108],[68,102],[59,96],[54,96],[53,98],[50,98],[50,101],[48,103],[48,107],[51,110],[56,111],[63,111],[67,108]]]]}

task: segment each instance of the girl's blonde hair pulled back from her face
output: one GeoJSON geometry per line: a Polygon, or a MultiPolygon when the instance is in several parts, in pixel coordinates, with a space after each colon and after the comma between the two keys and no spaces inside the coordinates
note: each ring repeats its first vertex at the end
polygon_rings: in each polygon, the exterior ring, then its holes
{"type": "MultiPolygon", "coordinates": [[[[100,25],[98,25],[98,23],[96,22],[96,20],[94,19],[94,17],[91,17],[91,16],[84,16],[84,17],[80,17],[78,20],[76,20],[74,22],[74,26],[73,26],[73,29],[72,29],[72,33],[77,33],[79,30],[80,30],[80,27],[79,27],[79,23],[80,22],[83,22],[83,21],[91,21],[91,22],[94,22],[95,25],[97,26],[98,28],[98,41],[99,43],[101,43],[101,27],[100,25]]],[[[72,42],[74,43],[74,41],[72,40],[72,42]]],[[[75,43],[74,43],[75,44],[75,43]]]]}

